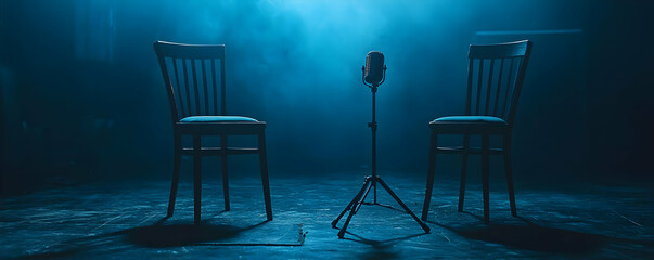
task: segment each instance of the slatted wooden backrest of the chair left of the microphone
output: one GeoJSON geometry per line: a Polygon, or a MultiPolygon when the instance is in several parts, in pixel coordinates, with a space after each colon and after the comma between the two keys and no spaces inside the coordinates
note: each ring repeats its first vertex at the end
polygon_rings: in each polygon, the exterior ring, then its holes
{"type": "Polygon", "coordinates": [[[166,83],[174,123],[189,116],[226,115],[223,44],[157,41],[154,50],[166,83]]]}

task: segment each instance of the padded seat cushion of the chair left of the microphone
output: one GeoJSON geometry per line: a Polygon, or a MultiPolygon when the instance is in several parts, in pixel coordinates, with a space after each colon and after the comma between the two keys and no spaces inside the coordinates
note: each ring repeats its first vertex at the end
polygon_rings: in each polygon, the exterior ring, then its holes
{"type": "Polygon", "coordinates": [[[191,116],[182,118],[175,127],[181,133],[258,134],[266,128],[266,122],[242,116],[191,116]]]}

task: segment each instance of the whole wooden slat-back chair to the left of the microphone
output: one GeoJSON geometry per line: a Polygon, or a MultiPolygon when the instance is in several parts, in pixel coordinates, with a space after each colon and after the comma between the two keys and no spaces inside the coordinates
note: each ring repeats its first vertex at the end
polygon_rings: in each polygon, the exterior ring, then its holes
{"type": "Polygon", "coordinates": [[[172,216],[182,155],[193,156],[194,223],[201,220],[201,158],[222,157],[225,210],[230,210],[227,156],[259,154],[266,216],[272,220],[268,165],[266,161],[266,122],[249,117],[227,116],[225,83],[225,46],[192,46],[157,41],[158,57],[172,119],[175,161],[168,217],[172,216]],[[220,96],[220,100],[218,100],[220,96]],[[219,102],[220,101],[220,102],[219,102]],[[182,135],[193,138],[192,147],[182,146],[182,135]],[[220,136],[220,147],[204,147],[205,135],[220,136]],[[258,147],[228,147],[228,135],[257,135],[258,147]]]}

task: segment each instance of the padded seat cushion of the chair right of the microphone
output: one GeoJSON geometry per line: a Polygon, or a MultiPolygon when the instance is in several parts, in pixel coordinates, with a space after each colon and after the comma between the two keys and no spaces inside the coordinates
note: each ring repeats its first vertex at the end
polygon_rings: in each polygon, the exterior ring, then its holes
{"type": "Polygon", "coordinates": [[[503,134],[509,123],[491,116],[448,116],[429,122],[432,130],[439,133],[489,133],[503,134]]]}

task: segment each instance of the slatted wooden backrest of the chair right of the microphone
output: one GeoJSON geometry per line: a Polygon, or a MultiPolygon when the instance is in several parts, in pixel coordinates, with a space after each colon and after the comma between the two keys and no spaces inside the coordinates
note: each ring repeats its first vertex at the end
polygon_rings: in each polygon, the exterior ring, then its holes
{"type": "Polygon", "coordinates": [[[513,125],[531,42],[470,46],[465,114],[495,116],[513,125]]]}

